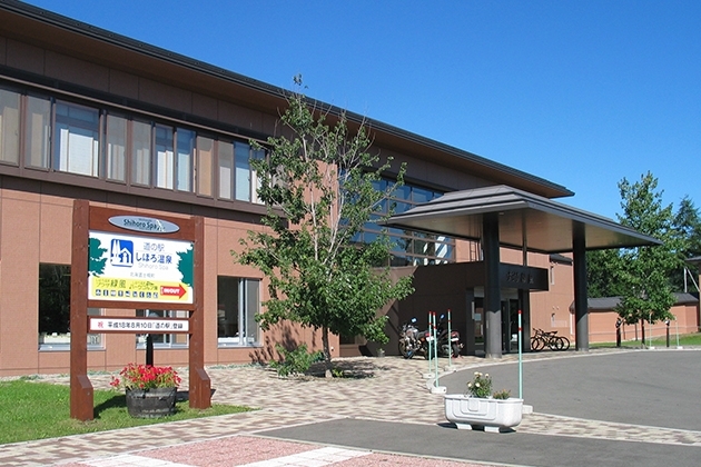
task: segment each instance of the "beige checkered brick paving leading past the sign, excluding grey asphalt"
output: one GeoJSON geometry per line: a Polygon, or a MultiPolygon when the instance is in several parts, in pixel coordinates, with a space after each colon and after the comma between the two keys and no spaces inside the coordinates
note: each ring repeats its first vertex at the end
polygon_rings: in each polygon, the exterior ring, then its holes
{"type": "MultiPolygon", "coordinates": [[[[592,354],[599,351],[611,350],[592,350],[592,354]]],[[[573,355],[573,352],[524,354],[524,359],[569,358],[573,355]]],[[[505,355],[502,360],[494,361],[477,357],[462,357],[453,360],[451,368],[447,368],[446,359],[441,359],[441,371],[505,364],[515,358],[515,355],[505,355]]],[[[396,357],[345,358],[335,360],[335,365],[355,377],[283,379],[278,378],[274,370],[260,366],[209,367],[207,372],[215,390],[213,403],[244,405],[258,408],[258,410],[2,445],[0,446],[0,465],[88,466],[92,465],[90,459],[109,459],[126,454],[136,455],[138,458],[142,453],[164,448],[195,450],[198,449],[198,445],[213,440],[249,439],[256,433],[271,428],[348,417],[405,423],[404,414],[411,413],[413,414],[412,423],[435,426],[446,421],[442,395],[432,394],[428,390],[431,382],[424,378],[430,370],[426,360],[404,360],[396,357]],[[387,394],[393,395],[393,404],[386,404],[387,394]],[[397,410],[397,407],[402,407],[402,410],[397,410]]],[[[180,372],[187,376],[186,368],[180,372]]],[[[41,376],[37,380],[68,385],[67,375],[41,376]]],[[[110,375],[90,375],[90,380],[96,388],[108,388],[110,375]]],[[[180,389],[187,389],[187,378],[184,378],[180,389]]],[[[644,439],[645,443],[701,446],[701,431],[604,423],[536,413],[524,415],[516,430],[536,435],[624,441],[644,439]]],[[[268,445],[271,446],[271,444],[273,440],[268,440],[268,445]]],[[[230,463],[226,465],[246,464],[235,464],[234,460],[229,460],[230,463]]],[[[371,461],[371,458],[365,460],[371,461]]],[[[178,460],[178,463],[197,465],[186,460],[178,460]]],[[[416,465],[414,460],[412,464],[416,465]]],[[[465,466],[464,463],[454,465],[465,466]]]]}

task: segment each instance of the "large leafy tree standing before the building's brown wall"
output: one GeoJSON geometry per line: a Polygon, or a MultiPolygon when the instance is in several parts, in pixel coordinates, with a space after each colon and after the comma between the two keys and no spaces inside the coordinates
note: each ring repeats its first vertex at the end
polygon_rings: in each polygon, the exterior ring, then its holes
{"type": "MultiPolygon", "coordinates": [[[[302,79],[295,83],[299,87],[302,79]]],[[[292,320],[320,329],[328,365],[329,334],[385,342],[386,317],[377,317],[377,310],[413,291],[411,278],[389,278],[386,236],[353,242],[366,222],[382,218],[382,203],[403,183],[404,167],[397,185],[378,191],[374,183],[392,160],[381,163],[371,152],[364,123],[352,131],[340,112],[329,125],[329,113],[310,108],[300,92],[288,96],[287,103],[280,117],[284,135],[269,138],[267,157],[253,161],[258,197],[268,206],[267,229],[249,231],[244,251],[234,255],[269,278],[260,326],[292,320]]]]}

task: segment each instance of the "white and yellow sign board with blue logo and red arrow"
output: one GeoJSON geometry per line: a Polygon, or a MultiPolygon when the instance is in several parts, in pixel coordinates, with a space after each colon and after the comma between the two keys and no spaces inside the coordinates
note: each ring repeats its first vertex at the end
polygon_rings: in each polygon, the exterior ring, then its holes
{"type": "Polygon", "coordinates": [[[192,304],[191,241],[89,232],[88,299],[192,304]]]}

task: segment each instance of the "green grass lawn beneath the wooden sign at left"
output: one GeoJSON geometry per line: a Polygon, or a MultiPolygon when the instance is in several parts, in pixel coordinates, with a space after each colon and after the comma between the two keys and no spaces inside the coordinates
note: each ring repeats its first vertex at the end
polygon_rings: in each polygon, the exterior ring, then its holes
{"type": "Polygon", "coordinates": [[[53,438],[164,421],[248,411],[250,408],[213,405],[190,409],[188,401],[176,404],[176,414],[164,418],[131,418],[124,393],[95,389],[95,419],[70,418],[70,388],[22,379],[0,381],[0,444],[53,438]]]}

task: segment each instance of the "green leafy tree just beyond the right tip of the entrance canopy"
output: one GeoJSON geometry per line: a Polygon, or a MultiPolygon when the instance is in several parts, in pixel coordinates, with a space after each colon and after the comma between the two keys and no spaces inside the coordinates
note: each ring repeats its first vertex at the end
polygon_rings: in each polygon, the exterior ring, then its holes
{"type": "Polygon", "coordinates": [[[650,172],[635,183],[625,178],[619,182],[623,208],[620,222],[662,241],[661,246],[629,248],[620,254],[622,294],[616,311],[626,324],[641,322],[643,341],[645,320],[654,324],[672,318],[674,297],[669,277],[680,266],[681,242],[673,229],[672,205],[662,206],[662,191],[655,191],[656,186],[650,172]]]}

